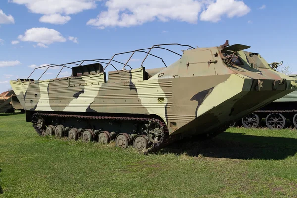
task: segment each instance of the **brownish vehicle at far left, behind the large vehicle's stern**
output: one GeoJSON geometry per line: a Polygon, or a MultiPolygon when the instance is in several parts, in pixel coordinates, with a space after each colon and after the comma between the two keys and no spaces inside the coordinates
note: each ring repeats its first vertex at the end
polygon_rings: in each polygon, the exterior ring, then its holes
{"type": "Polygon", "coordinates": [[[0,113],[13,113],[15,110],[23,110],[23,107],[14,94],[13,90],[1,93],[0,113]]]}

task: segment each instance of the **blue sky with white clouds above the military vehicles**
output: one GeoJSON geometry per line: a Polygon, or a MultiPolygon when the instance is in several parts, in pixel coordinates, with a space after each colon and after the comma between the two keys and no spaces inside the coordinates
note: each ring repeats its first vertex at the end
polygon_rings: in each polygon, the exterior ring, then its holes
{"type": "MultiPolygon", "coordinates": [[[[9,80],[26,78],[39,65],[110,58],[160,43],[210,47],[229,39],[297,73],[296,6],[295,0],[0,0],[0,93],[10,88],[9,80]]],[[[167,65],[178,59],[153,53],[167,65]]],[[[131,65],[139,67],[144,55],[131,65]]],[[[150,58],[144,66],[162,63],[150,58]]],[[[49,70],[43,79],[57,72],[49,70]]]]}

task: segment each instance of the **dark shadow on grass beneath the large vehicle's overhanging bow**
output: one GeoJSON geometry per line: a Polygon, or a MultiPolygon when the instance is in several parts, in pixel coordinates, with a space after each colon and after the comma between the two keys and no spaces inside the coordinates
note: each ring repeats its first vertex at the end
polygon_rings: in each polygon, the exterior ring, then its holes
{"type": "Polygon", "coordinates": [[[224,132],[204,141],[181,140],[158,154],[168,152],[193,157],[283,160],[297,153],[297,139],[224,132]]]}

